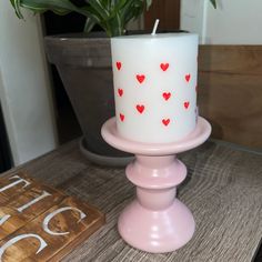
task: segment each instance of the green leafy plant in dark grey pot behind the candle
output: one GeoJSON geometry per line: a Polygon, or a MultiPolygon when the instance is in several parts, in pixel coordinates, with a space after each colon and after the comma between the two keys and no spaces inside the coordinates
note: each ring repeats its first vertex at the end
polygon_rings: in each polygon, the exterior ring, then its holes
{"type": "MultiPolygon", "coordinates": [[[[147,10],[152,0],[10,0],[19,18],[21,8],[36,13],[51,10],[63,16],[78,12],[87,18],[83,33],[46,37],[46,51],[57,66],[70,98],[83,138],[80,148],[97,163],[125,165],[125,153],[108,145],[100,135],[101,125],[114,114],[110,38],[127,32],[129,21],[147,10]],[[75,1],[74,1],[75,2],[75,1]],[[99,24],[105,33],[89,33],[99,24]]],[[[215,0],[210,0],[215,7],[215,0]]]]}

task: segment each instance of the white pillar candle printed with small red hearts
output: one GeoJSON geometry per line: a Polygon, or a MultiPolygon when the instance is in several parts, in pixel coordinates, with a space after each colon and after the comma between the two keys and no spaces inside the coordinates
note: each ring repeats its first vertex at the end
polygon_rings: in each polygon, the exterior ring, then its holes
{"type": "Polygon", "coordinates": [[[198,36],[111,39],[117,129],[137,142],[168,143],[195,128],[198,36]]]}

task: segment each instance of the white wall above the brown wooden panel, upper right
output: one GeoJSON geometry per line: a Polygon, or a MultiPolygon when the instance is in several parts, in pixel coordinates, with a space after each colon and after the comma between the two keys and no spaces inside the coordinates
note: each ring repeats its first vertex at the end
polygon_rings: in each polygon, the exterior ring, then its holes
{"type": "Polygon", "coordinates": [[[198,32],[202,43],[262,43],[261,0],[216,1],[218,9],[215,10],[209,0],[182,0],[181,29],[198,32]],[[198,11],[193,10],[192,2],[198,6],[198,11]]]}

